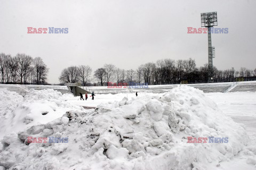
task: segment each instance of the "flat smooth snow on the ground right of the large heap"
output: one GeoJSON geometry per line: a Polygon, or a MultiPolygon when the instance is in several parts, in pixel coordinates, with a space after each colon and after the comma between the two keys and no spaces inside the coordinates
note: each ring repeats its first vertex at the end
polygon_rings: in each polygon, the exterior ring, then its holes
{"type": "MultiPolygon", "coordinates": [[[[245,126],[246,133],[250,137],[249,146],[256,146],[256,92],[210,93],[206,95],[218,105],[223,113],[245,126]]],[[[254,154],[256,154],[255,151],[254,154]]],[[[251,167],[246,163],[248,161],[246,157],[241,154],[220,165],[223,169],[256,169],[255,166],[251,167]]]]}

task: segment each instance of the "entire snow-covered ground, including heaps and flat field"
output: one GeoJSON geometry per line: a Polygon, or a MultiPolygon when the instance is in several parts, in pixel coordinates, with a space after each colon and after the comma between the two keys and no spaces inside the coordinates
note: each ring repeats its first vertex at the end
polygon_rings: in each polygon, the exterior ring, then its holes
{"type": "Polygon", "coordinates": [[[0,169],[256,168],[256,92],[204,94],[181,86],[138,95],[85,101],[52,89],[31,89],[24,98],[0,89],[0,169]],[[188,137],[228,142],[188,143],[188,137]]]}

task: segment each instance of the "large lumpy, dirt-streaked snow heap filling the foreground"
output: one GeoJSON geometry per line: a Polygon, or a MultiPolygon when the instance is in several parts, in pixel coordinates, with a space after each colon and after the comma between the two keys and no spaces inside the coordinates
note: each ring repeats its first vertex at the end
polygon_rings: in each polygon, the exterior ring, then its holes
{"type": "Polygon", "coordinates": [[[202,91],[181,86],[150,99],[123,98],[95,111],[69,111],[47,124],[6,135],[0,166],[206,169],[237,155],[248,140],[244,128],[223,115],[202,91]],[[28,143],[28,137],[68,138],[68,143],[28,143]],[[187,137],[228,138],[228,143],[187,143],[187,137]]]}

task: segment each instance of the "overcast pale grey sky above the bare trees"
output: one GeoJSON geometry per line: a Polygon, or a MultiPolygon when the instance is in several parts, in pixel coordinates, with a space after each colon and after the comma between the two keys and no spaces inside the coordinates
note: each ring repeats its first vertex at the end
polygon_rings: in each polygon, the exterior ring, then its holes
{"type": "Polygon", "coordinates": [[[191,57],[199,67],[207,63],[207,34],[188,34],[187,27],[200,28],[201,12],[217,11],[217,28],[228,33],[212,34],[213,65],[255,69],[255,8],[254,0],[0,0],[0,52],[42,57],[50,83],[58,83],[61,70],[72,65],[137,69],[163,58],[191,57]],[[68,33],[28,34],[27,27],[68,33]]]}

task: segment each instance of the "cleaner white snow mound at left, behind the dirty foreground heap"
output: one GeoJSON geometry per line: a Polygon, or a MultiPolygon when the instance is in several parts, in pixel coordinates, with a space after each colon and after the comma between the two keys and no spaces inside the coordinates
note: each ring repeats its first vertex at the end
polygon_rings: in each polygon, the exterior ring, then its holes
{"type": "Polygon", "coordinates": [[[0,96],[0,139],[13,131],[53,121],[69,109],[81,110],[53,89],[31,89],[24,98],[16,92],[1,89],[0,96]]]}

